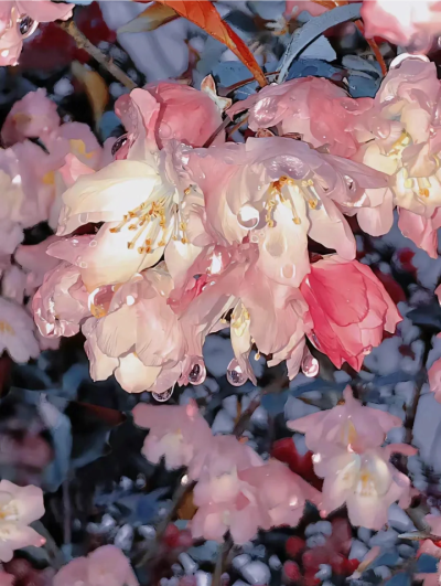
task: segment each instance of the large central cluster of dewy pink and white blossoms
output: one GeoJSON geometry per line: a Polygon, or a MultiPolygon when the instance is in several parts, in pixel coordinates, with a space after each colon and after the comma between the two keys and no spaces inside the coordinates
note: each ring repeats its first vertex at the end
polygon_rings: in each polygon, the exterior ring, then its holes
{"type": "Polygon", "coordinates": [[[66,158],[77,180],[47,251],[62,263],[33,302],[41,333],[82,329],[94,380],[115,373],[126,391],[162,398],[176,382],[204,381],[205,338],[228,323],[233,385],[256,382],[252,350],[269,365],[287,361],[291,379],[316,374],[306,337],[338,367],[359,370],[400,321],[355,260],[346,219],[370,233],[390,227],[387,174],[349,159],[372,141],[378,106],[324,79],[288,82],[240,105],[251,129],[284,136],[232,143],[220,131],[204,147],[229,100],[211,78],[202,87],[135,89],[117,102],[127,135],[115,160],[97,170],[66,158]],[[311,241],[336,254],[313,255],[311,241]]]}

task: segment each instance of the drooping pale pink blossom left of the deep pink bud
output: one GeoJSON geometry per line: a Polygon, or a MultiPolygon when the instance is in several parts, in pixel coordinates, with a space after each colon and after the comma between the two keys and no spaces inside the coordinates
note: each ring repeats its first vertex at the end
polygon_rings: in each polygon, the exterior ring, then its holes
{"type": "Polygon", "coordinates": [[[269,279],[260,270],[258,258],[256,244],[207,246],[187,269],[181,287],[169,297],[195,355],[201,354],[205,337],[232,309],[236,370],[240,371],[243,382],[250,379],[255,383],[248,361],[252,343],[263,354],[272,354],[270,365],[287,360],[289,375],[293,377],[300,367],[304,332],[309,328],[308,307],[300,291],[269,279]]]}

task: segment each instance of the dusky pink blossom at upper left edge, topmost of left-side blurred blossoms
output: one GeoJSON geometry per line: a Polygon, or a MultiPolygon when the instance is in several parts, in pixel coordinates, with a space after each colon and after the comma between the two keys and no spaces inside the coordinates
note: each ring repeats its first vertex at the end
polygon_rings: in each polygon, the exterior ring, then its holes
{"type": "Polygon", "coordinates": [[[45,89],[39,88],[14,103],[1,128],[1,138],[11,146],[25,138],[46,136],[58,126],[56,104],[46,97],[45,89]]]}

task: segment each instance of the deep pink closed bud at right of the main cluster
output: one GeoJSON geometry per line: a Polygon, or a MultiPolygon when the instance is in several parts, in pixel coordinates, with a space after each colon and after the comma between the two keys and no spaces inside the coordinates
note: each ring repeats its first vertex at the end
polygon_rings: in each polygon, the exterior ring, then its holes
{"type": "Polygon", "coordinates": [[[401,317],[369,267],[331,255],[311,265],[300,290],[313,321],[311,342],[340,369],[359,371],[364,356],[401,317]]]}

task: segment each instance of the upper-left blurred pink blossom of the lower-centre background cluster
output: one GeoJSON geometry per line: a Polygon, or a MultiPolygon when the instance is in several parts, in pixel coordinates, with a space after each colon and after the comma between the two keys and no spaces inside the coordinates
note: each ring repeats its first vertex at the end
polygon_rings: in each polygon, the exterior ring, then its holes
{"type": "Polygon", "coordinates": [[[153,406],[139,403],[133,419],[150,429],[142,454],[158,464],[163,457],[169,469],[189,467],[189,477],[197,480],[206,457],[211,457],[213,436],[208,424],[193,403],[185,406],[153,406]]]}

